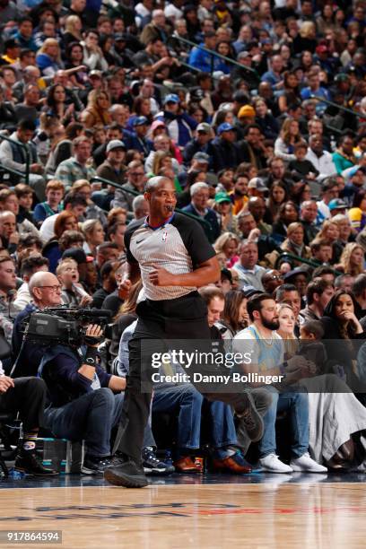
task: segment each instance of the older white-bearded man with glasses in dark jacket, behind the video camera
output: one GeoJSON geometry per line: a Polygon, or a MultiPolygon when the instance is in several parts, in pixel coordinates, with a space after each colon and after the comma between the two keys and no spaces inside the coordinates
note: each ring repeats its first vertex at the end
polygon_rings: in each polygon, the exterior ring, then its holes
{"type": "MultiPolygon", "coordinates": [[[[0,264],[1,265],[1,264],[0,264]]],[[[57,307],[61,305],[61,284],[57,276],[52,273],[39,271],[32,274],[29,282],[30,296],[33,300],[15,318],[13,326],[13,359],[16,359],[16,366],[13,370],[13,378],[20,376],[35,376],[44,353],[39,344],[30,341],[23,341],[23,325],[30,313],[35,310],[42,310],[46,307],[57,307]]]]}

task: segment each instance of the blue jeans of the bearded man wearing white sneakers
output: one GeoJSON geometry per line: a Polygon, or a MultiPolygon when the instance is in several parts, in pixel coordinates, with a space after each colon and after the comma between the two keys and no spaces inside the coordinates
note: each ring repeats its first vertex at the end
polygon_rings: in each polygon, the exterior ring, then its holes
{"type": "Polygon", "coordinates": [[[301,457],[309,449],[309,399],[307,393],[271,391],[272,405],[263,418],[265,433],[259,442],[260,457],[274,454],[275,420],[278,412],[288,411],[292,425],[292,455],[301,457]]]}

